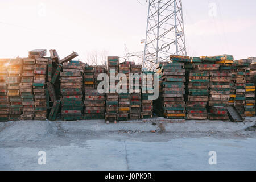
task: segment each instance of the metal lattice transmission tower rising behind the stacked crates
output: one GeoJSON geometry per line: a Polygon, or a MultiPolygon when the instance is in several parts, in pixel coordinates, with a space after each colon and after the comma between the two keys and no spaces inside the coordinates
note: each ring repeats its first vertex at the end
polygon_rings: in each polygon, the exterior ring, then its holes
{"type": "Polygon", "coordinates": [[[149,0],[143,64],[187,55],[181,0],[149,0]]]}

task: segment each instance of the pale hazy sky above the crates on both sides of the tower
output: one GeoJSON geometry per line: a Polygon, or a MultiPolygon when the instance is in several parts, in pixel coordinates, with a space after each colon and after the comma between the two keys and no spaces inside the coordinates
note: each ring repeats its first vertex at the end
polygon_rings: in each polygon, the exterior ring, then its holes
{"type": "MultiPolygon", "coordinates": [[[[144,51],[145,2],[0,0],[0,57],[26,57],[32,49],[47,49],[49,56],[56,49],[61,58],[76,51],[86,62],[94,50],[123,56],[124,44],[130,52],[144,51]]],[[[255,0],[183,0],[188,55],[256,56],[255,8],[255,0]]]]}

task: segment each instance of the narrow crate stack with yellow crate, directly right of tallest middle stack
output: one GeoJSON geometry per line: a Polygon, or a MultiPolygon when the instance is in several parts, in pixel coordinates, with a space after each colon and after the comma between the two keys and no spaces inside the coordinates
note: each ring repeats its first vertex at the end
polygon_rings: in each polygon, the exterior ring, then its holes
{"type": "Polygon", "coordinates": [[[118,121],[127,121],[129,119],[129,113],[130,113],[129,74],[131,72],[130,65],[131,64],[126,61],[119,64],[119,74],[121,74],[121,77],[119,78],[119,80],[123,82],[124,85],[121,85],[120,89],[122,89],[123,92],[119,93],[119,96],[118,96],[119,97],[118,98],[118,114],[117,114],[118,121]],[[122,76],[126,76],[126,78],[122,76]]]}

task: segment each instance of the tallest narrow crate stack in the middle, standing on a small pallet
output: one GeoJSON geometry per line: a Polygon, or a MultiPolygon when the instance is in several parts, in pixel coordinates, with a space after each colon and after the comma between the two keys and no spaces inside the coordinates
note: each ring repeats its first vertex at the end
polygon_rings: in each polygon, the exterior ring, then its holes
{"type": "Polygon", "coordinates": [[[118,79],[115,77],[119,73],[119,57],[108,57],[108,84],[109,90],[106,94],[106,113],[105,121],[106,123],[114,122],[117,123],[118,114],[118,93],[115,92],[115,86],[118,83],[118,79]]]}

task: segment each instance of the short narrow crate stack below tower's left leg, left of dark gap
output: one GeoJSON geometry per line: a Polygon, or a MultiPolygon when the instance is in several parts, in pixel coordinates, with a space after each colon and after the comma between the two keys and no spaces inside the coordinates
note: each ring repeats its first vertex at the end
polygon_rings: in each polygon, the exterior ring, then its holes
{"type": "Polygon", "coordinates": [[[154,95],[154,74],[155,72],[143,71],[141,110],[142,119],[153,117],[153,100],[150,100],[149,97],[154,95]]]}

